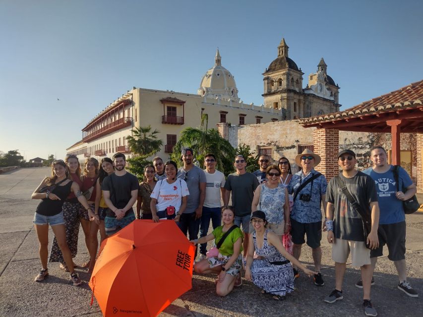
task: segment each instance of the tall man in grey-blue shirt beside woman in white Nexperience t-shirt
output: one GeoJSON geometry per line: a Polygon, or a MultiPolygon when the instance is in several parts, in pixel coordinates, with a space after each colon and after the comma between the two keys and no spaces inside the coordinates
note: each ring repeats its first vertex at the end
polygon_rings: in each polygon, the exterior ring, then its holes
{"type": "MultiPolygon", "coordinates": [[[[177,178],[186,182],[189,195],[186,202],[186,208],[183,211],[180,220],[177,222],[183,234],[189,234],[189,240],[198,238],[200,229],[201,214],[203,212],[204,198],[206,196],[206,174],[193,163],[194,152],[190,148],[183,148],[181,160],[183,166],[178,170],[177,178]]],[[[197,248],[195,248],[195,257],[197,248]]],[[[194,257],[194,258],[195,258],[194,257]]]]}

